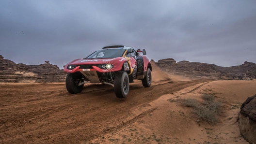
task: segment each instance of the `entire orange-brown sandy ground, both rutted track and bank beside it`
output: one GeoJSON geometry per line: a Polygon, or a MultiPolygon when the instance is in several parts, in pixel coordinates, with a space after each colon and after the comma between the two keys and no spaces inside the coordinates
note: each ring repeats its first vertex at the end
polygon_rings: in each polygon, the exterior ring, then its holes
{"type": "Polygon", "coordinates": [[[1,144],[248,144],[238,128],[240,105],[256,80],[179,80],[153,68],[153,83],[130,85],[127,99],[108,85],[71,95],[64,83],[0,83],[1,144]],[[200,121],[178,99],[223,103],[216,125],[200,121]]]}

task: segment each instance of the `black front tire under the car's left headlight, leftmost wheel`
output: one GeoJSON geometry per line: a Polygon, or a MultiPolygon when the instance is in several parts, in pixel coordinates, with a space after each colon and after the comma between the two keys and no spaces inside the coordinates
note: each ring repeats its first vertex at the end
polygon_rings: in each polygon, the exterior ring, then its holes
{"type": "Polygon", "coordinates": [[[82,77],[81,72],[68,73],[66,76],[66,89],[70,94],[80,93],[83,90],[83,85],[78,86],[77,79],[82,77]]]}

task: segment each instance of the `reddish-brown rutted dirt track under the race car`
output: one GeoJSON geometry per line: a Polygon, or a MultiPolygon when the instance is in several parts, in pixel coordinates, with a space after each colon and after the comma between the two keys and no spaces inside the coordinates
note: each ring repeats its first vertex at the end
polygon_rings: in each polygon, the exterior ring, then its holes
{"type": "Polygon", "coordinates": [[[2,83],[0,143],[74,144],[93,140],[136,119],[134,109],[203,82],[165,81],[145,88],[136,81],[130,85],[127,99],[116,98],[108,85],[84,86],[80,94],[70,95],[64,83],[2,83]]]}

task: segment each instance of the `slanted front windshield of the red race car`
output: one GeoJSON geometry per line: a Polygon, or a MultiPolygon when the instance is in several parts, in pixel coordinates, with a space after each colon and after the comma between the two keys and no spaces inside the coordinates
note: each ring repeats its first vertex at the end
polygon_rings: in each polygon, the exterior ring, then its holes
{"type": "Polygon", "coordinates": [[[117,58],[122,57],[126,49],[110,48],[94,52],[87,58],[117,58]]]}

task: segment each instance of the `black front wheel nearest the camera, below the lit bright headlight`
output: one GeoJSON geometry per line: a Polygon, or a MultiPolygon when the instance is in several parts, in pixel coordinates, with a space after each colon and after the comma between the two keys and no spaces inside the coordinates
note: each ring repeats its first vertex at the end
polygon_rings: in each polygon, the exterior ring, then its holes
{"type": "Polygon", "coordinates": [[[129,78],[127,72],[116,72],[114,92],[117,98],[126,98],[129,92],[129,78]]]}

